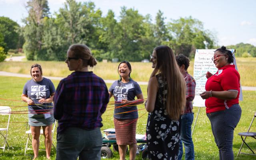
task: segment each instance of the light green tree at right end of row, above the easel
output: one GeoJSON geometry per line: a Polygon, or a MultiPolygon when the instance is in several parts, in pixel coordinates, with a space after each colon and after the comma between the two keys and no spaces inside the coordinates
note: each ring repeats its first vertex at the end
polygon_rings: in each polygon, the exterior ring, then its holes
{"type": "Polygon", "coordinates": [[[196,48],[210,49],[213,47],[212,33],[204,30],[202,22],[191,16],[172,20],[168,24],[168,29],[173,37],[170,46],[174,48],[176,54],[182,53],[190,56],[196,48]]]}

